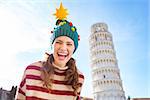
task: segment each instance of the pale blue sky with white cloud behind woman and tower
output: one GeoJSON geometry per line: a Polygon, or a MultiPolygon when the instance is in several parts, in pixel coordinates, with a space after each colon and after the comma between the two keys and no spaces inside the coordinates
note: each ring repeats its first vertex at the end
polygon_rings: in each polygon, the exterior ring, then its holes
{"type": "MultiPolygon", "coordinates": [[[[150,97],[148,0],[61,1],[81,38],[73,55],[85,75],[81,95],[93,97],[89,36],[93,24],[104,22],[113,36],[126,97],[150,97]]],[[[26,66],[51,52],[53,14],[61,1],[0,0],[0,87],[19,85],[26,66]]]]}

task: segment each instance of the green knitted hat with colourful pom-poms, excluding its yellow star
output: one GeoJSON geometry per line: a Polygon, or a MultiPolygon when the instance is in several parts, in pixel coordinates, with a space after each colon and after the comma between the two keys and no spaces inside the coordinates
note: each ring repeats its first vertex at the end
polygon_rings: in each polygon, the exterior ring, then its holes
{"type": "Polygon", "coordinates": [[[54,40],[59,36],[67,36],[71,38],[74,41],[75,50],[76,51],[78,47],[78,33],[75,28],[75,26],[72,25],[71,22],[68,22],[67,20],[57,20],[56,22],[57,28],[54,28],[53,35],[52,35],[52,44],[54,40]]]}

